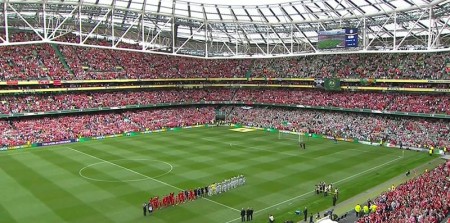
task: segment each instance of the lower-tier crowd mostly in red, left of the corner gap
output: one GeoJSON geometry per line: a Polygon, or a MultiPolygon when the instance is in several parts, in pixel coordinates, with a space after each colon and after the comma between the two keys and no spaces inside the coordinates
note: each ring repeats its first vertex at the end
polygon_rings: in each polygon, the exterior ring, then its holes
{"type": "Polygon", "coordinates": [[[168,108],[120,113],[96,113],[0,120],[0,146],[105,136],[161,127],[210,123],[214,108],[168,108]]]}

